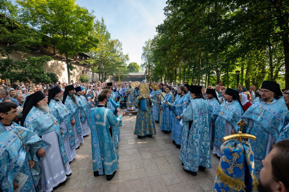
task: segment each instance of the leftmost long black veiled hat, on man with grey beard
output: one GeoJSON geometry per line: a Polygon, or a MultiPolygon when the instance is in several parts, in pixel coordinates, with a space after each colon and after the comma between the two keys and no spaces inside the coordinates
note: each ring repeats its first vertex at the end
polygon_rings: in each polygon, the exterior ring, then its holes
{"type": "Polygon", "coordinates": [[[23,112],[22,112],[22,118],[21,118],[21,126],[24,125],[24,121],[32,107],[38,102],[41,101],[42,99],[45,99],[45,95],[41,92],[35,92],[31,95],[26,96],[24,105],[23,105],[23,112]]]}

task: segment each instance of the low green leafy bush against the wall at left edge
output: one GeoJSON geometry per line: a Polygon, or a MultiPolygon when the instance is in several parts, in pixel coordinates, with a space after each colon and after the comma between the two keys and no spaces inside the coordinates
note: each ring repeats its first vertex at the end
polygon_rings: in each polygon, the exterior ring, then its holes
{"type": "Polygon", "coordinates": [[[13,59],[0,59],[0,77],[2,79],[10,79],[12,82],[35,83],[50,82],[50,78],[45,74],[45,64],[52,58],[43,57],[26,57],[22,61],[14,61],[13,59]]]}

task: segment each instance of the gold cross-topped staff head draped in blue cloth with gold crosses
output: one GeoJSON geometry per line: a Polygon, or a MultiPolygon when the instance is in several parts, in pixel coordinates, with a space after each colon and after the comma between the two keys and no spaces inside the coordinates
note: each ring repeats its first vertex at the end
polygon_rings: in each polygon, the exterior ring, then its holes
{"type": "Polygon", "coordinates": [[[256,140],[250,134],[242,133],[243,120],[238,123],[239,133],[222,138],[221,159],[217,169],[213,191],[257,191],[254,154],[251,145],[244,138],[256,140]]]}

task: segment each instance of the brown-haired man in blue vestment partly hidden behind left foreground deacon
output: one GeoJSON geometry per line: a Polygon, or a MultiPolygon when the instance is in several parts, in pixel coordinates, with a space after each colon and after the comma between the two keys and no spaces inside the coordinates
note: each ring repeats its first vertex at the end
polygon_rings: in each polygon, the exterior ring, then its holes
{"type": "MultiPolygon", "coordinates": [[[[110,88],[110,87],[108,87],[110,88]]],[[[120,111],[121,109],[119,108],[119,105],[114,104],[113,100],[110,99],[112,90],[111,89],[104,89],[102,93],[105,93],[108,97],[108,102],[107,102],[107,108],[112,111],[112,113],[117,117],[117,112],[120,111]]],[[[118,102],[119,104],[119,102],[118,102]]],[[[118,148],[118,141],[120,141],[120,131],[118,126],[113,126],[112,127],[112,137],[114,141],[114,146],[118,148]]]]}

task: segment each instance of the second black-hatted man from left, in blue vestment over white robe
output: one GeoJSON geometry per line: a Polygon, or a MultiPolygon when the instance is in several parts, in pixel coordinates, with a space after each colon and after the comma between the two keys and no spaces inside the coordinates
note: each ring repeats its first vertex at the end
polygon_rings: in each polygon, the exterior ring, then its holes
{"type": "Polygon", "coordinates": [[[71,126],[72,113],[62,103],[62,100],[63,92],[59,86],[52,87],[48,90],[47,104],[50,108],[50,113],[52,113],[52,115],[58,119],[61,130],[64,132],[64,148],[68,161],[71,162],[74,158],[76,158],[75,140],[71,126]]]}

